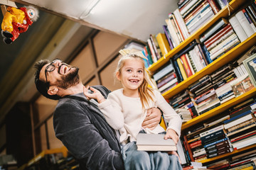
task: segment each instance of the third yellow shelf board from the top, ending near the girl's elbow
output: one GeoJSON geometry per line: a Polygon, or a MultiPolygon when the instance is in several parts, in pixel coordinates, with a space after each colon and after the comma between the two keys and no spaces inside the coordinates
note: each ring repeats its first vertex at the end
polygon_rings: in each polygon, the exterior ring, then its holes
{"type": "Polygon", "coordinates": [[[233,98],[230,101],[227,101],[221,104],[220,106],[213,108],[212,110],[206,113],[203,113],[202,115],[198,115],[196,118],[188,120],[186,123],[183,123],[183,125],[181,126],[181,130],[185,130],[186,128],[189,128],[192,125],[196,125],[197,123],[203,122],[208,118],[212,118],[213,116],[218,115],[219,113],[226,111],[228,108],[235,106],[238,103],[241,103],[242,101],[245,101],[249,98],[252,98],[255,95],[256,95],[256,88],[251,89],[250,91],[247,91],[247,93],[242,94],[241,96],[233,98]]]}

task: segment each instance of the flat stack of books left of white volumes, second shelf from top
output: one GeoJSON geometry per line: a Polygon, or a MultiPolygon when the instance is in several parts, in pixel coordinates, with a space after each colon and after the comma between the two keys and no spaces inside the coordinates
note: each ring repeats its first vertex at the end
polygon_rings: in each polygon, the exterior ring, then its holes
{"type": "Polygon", "coordinates": [[[224,18],[200,35],[200,41],[203,42],[204,48],[207,50],[206,55],[210,62],[240,43],[232,26],[224,18]]]}

